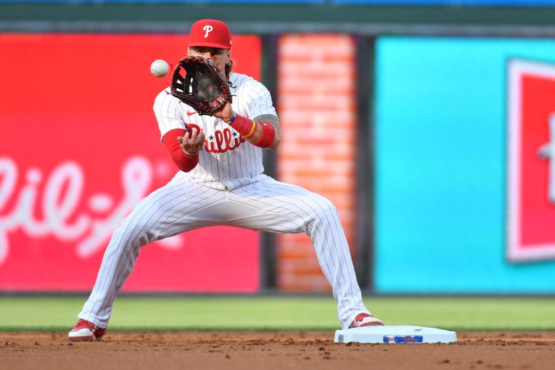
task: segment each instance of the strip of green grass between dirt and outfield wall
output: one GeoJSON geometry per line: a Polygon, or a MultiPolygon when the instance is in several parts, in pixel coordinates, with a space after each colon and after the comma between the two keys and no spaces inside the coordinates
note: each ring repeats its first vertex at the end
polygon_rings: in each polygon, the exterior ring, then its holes
{"type": "MultiPolygon", "coordinates": [[[[368,297],[389,325],[451,330],[555,330],[555,298],[368,297]]],[[[0,330],[67,330],[84,296],[0,296],[0,330]]],[[[118,297],[110,330],[334,330],[333,298],[118,297]]]]}

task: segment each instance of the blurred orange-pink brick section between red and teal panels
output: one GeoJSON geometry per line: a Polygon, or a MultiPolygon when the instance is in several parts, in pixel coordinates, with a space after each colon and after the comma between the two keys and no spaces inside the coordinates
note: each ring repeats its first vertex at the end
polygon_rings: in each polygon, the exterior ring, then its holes
{"type": "MultiPolygon", "coordinates": [[[[336,205],[355,245],[355,42],[348,35],[284,35],[279,43],[278,179],[336,205]]],[[[277,235],[280,289],[331,290],[305,234],[277,235]]]]}

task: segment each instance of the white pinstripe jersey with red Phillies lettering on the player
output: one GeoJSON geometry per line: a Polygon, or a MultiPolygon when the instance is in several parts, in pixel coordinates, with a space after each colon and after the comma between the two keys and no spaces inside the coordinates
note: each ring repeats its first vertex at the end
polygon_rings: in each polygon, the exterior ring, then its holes
{"type": "MultiPolygon", "coordinates": [[[[230,74],[232,108],[238,115],[253,119],[259,115],[275,115],[270,93],[254,78],[230,74]]],[[[205,142],[200,150],[198,165],[176,177],[187,176],[196,183],[219,190],[232,190],[256,181],[262,174],[262,149],[250,144],[222,119],[200,116],[179,99],[169,94],[169,88],[156,96],[154,113],[162,137],[175,128],[200,127],[205,142]]],[[[163,139],[161,139],[163,142],[163,139]]]]}

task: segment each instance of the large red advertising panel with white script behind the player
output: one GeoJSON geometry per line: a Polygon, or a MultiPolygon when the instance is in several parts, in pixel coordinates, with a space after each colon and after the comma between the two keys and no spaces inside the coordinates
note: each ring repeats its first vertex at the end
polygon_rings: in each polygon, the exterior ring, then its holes
{"type": "MultiPolygon", "coordinates": [[[[186,36],[0,34],[0,291],[92,289],[108,240],[178,170],[153,114],[186,36]]],[[[235,36],[260,76],[261,44],[235,36]]],[[[255,292],[259,235],[214,227],[144,246],[123,290],[255,292]]]]}

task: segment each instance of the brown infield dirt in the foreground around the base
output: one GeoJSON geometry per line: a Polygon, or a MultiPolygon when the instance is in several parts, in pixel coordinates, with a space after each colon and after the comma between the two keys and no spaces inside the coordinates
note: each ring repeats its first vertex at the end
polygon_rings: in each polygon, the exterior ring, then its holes
{"type": "Polygon", "coordinates": [[[458,332],[454,344],[336,344],[332,331],[0,333],[0,369],[555,369],[555,331],[458,332]]]}

